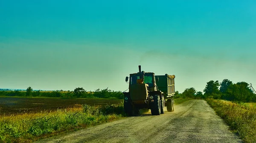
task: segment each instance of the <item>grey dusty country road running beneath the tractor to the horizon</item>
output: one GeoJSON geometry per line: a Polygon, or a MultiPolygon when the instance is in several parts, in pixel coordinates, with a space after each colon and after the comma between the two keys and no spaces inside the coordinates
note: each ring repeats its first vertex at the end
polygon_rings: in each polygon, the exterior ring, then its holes
{"type": "Polygon", "coordinates": [[[242,143],[204,100],[175,105],[175,112],[128,117],[36,143],[242,143]]]}

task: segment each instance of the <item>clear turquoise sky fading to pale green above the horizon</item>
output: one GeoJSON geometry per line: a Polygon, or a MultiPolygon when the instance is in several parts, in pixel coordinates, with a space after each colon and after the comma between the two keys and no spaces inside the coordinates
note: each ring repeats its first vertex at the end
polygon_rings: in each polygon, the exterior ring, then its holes
{"type": "Polygon", "coordinates": [[[124,91],[138,72],[256,88],[255,0],[0,0],[0,88],[124,91]]]}

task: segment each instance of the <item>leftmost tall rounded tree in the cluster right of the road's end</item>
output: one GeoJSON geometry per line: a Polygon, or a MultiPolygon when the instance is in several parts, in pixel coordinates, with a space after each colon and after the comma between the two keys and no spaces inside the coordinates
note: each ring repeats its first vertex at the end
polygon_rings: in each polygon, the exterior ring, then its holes
{"type": "Polygon", "coordinates": [[[212,96],[214,98],[220,98],[220,92],[218,90],[218,87],[220,86],[220,83],[218,81],[209,81],[206,84],[206,87],[204,88],[204,94],[206,96],[212,96]]]}

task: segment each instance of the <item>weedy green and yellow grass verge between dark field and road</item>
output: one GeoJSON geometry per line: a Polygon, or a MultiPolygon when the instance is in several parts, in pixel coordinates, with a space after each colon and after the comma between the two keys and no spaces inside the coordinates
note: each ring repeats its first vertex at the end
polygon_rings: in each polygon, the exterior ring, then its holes
{"type": "Polygon", "coordinates": [[[124,117],[123,104],[76,105],[55,112],[0,116],[0,143],[31,143],[61,132],[113,121],[124,117]]]}

